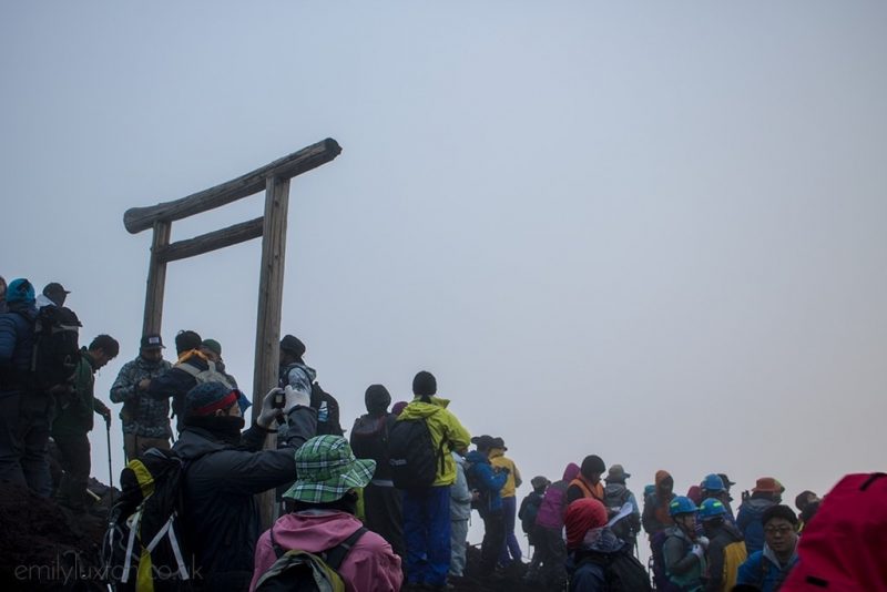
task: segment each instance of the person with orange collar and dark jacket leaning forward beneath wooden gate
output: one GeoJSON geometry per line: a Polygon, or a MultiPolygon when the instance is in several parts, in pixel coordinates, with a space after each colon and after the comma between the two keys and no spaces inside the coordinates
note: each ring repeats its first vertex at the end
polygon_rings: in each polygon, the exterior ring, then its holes
{"type": "Polygon", "coordinates": [[[215,364],[200,350],[201,336],[193,330],[181,330],[175,336],[176,363],[147,384],[146,392],[157,400],[172,398],[171,407],[176,417],[175,428],[182,431],[184,400],[187,392],[202,382],[221,382],[234,388],[227,378],[218,372],[215,364]],[[200,378],[198,378],[200,377],[200,378]]]}

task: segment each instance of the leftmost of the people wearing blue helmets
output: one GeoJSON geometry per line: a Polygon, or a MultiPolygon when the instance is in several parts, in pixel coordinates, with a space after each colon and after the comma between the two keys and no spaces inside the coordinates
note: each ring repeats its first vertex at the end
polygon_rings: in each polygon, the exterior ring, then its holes
{"type": "MultiPolygon", "coordinates": [[[[669,584],[686,592],[702,590],[702,578],[706,573],[705,548],[708,539],[696,537],[696,512],[693,500],[677,496],[669,503],[674,524],[664,531],[662,560],[669,584]]],[[[659,583],[656,584],[659,589],[659,583]]]]}

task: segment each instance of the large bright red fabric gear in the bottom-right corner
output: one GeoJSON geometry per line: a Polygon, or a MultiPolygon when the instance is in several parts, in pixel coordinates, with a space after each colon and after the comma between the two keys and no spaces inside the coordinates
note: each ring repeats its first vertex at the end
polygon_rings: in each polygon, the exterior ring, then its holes
{"type": "Polygon", "coordinates": [[[847,474],[804,527],[781,592],[887,591],[887,474],[847,474]]]}

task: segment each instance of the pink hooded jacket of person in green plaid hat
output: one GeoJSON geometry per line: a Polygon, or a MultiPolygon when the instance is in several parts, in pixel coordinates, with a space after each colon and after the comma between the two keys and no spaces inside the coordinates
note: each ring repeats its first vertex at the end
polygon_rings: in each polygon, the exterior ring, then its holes
{"type": "MultiPolygon", "coordinates": [[[[357,518],[347,512],[307,510],[282,516],[272,529],[274,540],[284,549],[317,553],[336,547],[361,525],[357,518]]],[[[258,579],[276,560],[271,535],[265,531],[256,544],[249,592],[255,591],[258,579]]],[[[348,592],[397,592],[404,579],[400,558],[385,539],[373,531],[360,537],[338,571],[348,592]]]]}

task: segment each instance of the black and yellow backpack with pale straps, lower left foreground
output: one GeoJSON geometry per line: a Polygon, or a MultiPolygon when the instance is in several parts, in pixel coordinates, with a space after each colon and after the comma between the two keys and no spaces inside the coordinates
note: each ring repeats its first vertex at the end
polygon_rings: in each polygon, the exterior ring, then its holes
{"type": "Polygon", "coordinates": [[[183,537],[185,461],[152,448],[126,465],[102,540],[105,578],[116,591],[187,591],[194,562],[183,537]]]}

